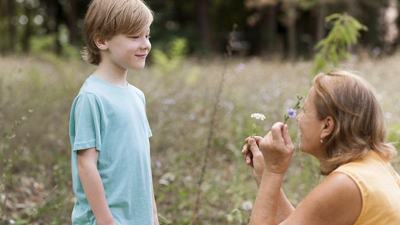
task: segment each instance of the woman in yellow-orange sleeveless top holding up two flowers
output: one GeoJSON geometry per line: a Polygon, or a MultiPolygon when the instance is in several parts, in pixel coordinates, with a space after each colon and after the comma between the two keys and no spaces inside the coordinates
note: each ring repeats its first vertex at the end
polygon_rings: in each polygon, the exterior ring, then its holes
{"type": "Polygon", "coordinates": [[[287,125],[246,138],[259,188],[250,224],[400,224],[400,176],[388,162],[396,151],[368,82],[348,71],[316,75],[296,121],[298,148],[328,176],[294,209],[280,188],[294,151],[287,125]]]}

